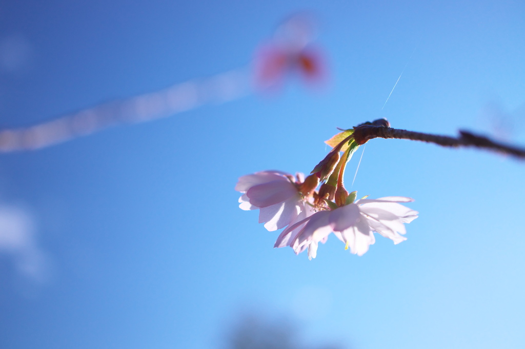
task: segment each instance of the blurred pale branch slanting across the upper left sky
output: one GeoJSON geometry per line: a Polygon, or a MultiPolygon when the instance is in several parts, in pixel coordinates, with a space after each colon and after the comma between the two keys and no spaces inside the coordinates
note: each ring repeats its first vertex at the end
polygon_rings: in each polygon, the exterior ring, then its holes
{"type": "Polygon", "coordinates": [[[112,126],[165,118],[206,103],[239,99],[250,91],[249,69],[230,70],[128,99],[101,103],[27,128],[0,129],[0,152],[37,150],[112,126]]]}

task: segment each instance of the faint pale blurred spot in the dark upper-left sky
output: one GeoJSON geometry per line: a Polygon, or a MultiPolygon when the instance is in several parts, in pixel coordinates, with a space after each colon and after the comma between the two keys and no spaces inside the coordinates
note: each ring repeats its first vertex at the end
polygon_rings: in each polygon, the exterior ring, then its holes
{"type": "Polygon", "coordinates": [[[0,70],[7,73],[22,72],[29,66],[33,49],[20,34],[0,39],[0,70]]]}

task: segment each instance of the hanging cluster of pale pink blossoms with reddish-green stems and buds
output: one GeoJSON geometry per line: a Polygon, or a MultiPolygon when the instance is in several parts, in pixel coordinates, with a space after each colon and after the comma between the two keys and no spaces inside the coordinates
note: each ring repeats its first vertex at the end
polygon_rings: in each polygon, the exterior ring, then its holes
{"type": "Polygon", "coordinates": [[[259,223],[269,231],[282,229],[275,247],[290,246],[296,253],[308,250],[316,258],[319,242],[331,232],[345,244],[345,249],[362,256],[374,244],[374,232],[394,244],[406,240],[405,223],[418,213],[401,203],[413,199],[387,196],[356,199],[343,185],[346,162],[359,147],[353,130],[335,135],[327,144],[333,150],[304,178],[280,171],[262,171],[239,178],[235,190],[243,193],[239,207],[259,209],[259,223]],[[343,155],[341,156],[341,152],[343,155]],[[318,188],[320,182],[322,185],[318,188]]]}

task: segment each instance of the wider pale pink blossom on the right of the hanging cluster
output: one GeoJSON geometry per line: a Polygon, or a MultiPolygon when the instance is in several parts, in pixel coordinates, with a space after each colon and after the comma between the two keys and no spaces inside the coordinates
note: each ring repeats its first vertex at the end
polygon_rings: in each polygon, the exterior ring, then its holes
{"type": "Polygon", "coordinates": [[[282,231],[276,247],[290,246],[296,253],[308,248],[308,257],[316,258],[319,242],[325,242],[333,231],[345,248],[362,256],[374,244],[373,232],[392,239],[394,244],[406,240],[404,223],[417,218],[417,212],[399,203],[413,199],[389,196],[379,199],[361,199],[333,210],[324,210],[290,225],[282,231]],[[282,241],[286,240],[286,245],[282,241]]]}

